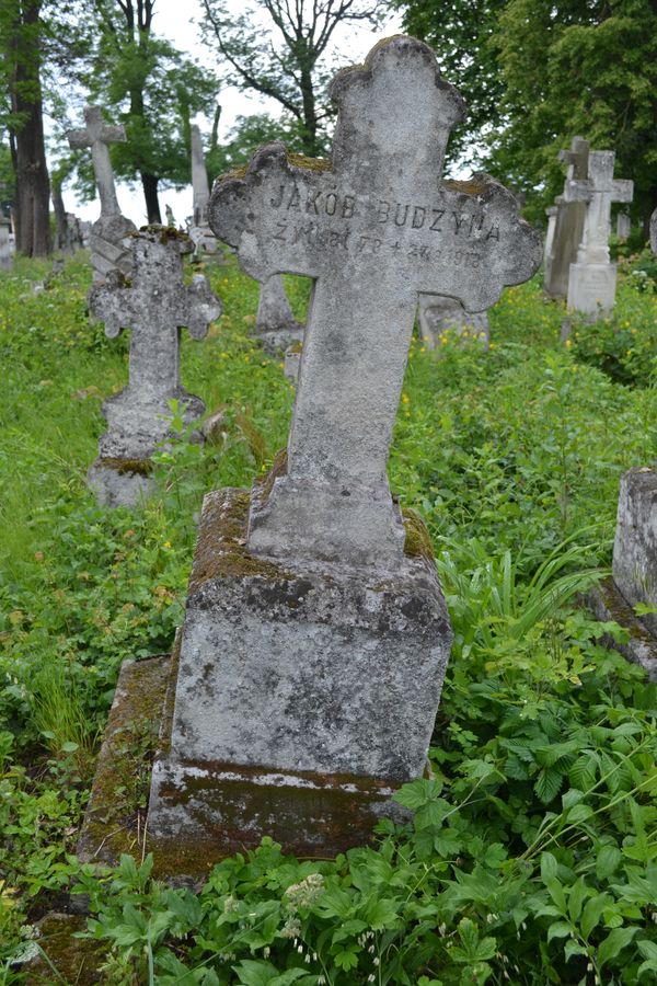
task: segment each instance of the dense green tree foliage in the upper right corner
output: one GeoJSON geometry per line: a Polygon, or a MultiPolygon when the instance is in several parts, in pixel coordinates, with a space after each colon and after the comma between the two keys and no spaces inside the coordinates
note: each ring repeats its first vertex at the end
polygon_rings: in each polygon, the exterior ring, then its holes
{"type": "Polygon", "coordinates": [[[644,221],[657,205],[655,0],[397,0],[468,104],[456,150],[528,193],[528,215],[563,185],[557,152],[579,134],[614,150],[644,221]]]}

